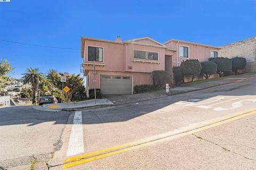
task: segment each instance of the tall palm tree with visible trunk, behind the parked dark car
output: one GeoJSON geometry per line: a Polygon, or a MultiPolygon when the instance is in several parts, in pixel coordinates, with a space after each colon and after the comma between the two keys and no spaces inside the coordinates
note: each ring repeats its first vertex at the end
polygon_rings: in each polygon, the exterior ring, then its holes
{"type": "Polygon", "coordinates": [[[39,72],[39,69],[27,69],[27,72],[23,74],[22,77],[23,84],[31,84],[32,90],[32,103],[36,103],[36,91],[39,83],[43,81],[44,74],[39,72]]]}

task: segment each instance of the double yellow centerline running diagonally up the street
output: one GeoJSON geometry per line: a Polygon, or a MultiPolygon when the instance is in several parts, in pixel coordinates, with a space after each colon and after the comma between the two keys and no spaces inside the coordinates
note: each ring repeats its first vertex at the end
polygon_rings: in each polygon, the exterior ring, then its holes
{"type": "MultiPolygon", "coordinates": [[[[255,113],[256,113],[256,109],[254,108],[254,109],[250,109],[250,110],[247,110],[244,112],[238,112],[233,115],[225,116],[222,118],[217,118],[216,120],[213,120],[213,121],[204,122],[204,123],[201,123],[200,125],[189,127],[188,129],[182,129],[180,131],[177,130],[175,134],[171,134],[169,136],[166,136],[167,133],[164,133],[164,134],[153,136],[151,138],[147,138],[145,140],[134,141],[134,142],[126,143],[124,145],[110,147],[110,148],[90,152],[88,154],[71,157],[64,161],[64,163],[67,163],[67,164],[64,164],[62,166],[62,168],[65,169],[65,168],[73,167],[76,165],[81,165],[84,163],[91,162],[93,160],[105,158],[108,156],[113,156],[116,154],[121,154],[122,152],[150,146],[155,143],[173,140],[173,139],[183,137],[188,134],[192,134],[192,133],[210,129],[215,126],[219,126],[219,125],[222,125],[222,124],[225,124],[228,122],[232,122],[232,121],[238,120],[240,118],[243,118],[245,116],[249,116],[249,115],[252,115],[255,113]]],[[[173,133],[174,131],[171,131],[171,132],[173,133]]]]}

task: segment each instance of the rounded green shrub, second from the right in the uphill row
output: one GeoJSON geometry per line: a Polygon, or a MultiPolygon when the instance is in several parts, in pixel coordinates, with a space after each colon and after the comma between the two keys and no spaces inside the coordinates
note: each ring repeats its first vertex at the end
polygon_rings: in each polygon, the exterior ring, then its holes
{"type": "Polygon", "coordinates": [[[209,58],[209,60],[217,64],[217,72],[220,77],[224,76],[224,72],[230,71],[232,69],[232,62],[229,58],[217,57],[209,58]]]}

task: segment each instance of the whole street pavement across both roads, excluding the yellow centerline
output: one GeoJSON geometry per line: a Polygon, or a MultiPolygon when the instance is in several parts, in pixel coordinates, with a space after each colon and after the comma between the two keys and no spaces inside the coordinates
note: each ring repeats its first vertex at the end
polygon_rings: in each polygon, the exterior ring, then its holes
{"type": "MultiPolygon", "coordinates": [[[[34,157],[50,169],[65,159],[154,138],[256,108],[256,80],[77,112],[0,109],[0,163],[34,157]]],[[[193,134],[79,164],[69,169],[253,169],[255,114],[193,134]]],[[[14,167],[15,168],[15,167],[14,167]]]]}

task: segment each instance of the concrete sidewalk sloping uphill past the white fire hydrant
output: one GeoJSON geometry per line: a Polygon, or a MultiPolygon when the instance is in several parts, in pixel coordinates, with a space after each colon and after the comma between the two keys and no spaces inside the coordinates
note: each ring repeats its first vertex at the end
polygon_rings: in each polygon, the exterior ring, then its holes
{"type": "Polygon", "coordinates": [[[227,77],[223,79],[214,79],[207,82],[195,82],[195,84],[183,84],[181,86],[175,86],[170,88],[170,92],[166,94],[165,89],[152,91],[152,92],[143,92],[141,94],[133,95],[104,95],[104,98],[109,99],[115,105],[123,105],[128,103],[135,103],[144,100],[150,100],[155,98],[162,98],[166,96],[185,94],[187,92],[204,90],[216,86],[222,86],[230,83],[237,83],[242,81],[247,81],[250,79],[256,79],[256,73],[246,73],[233,77],[227,77]]]}

